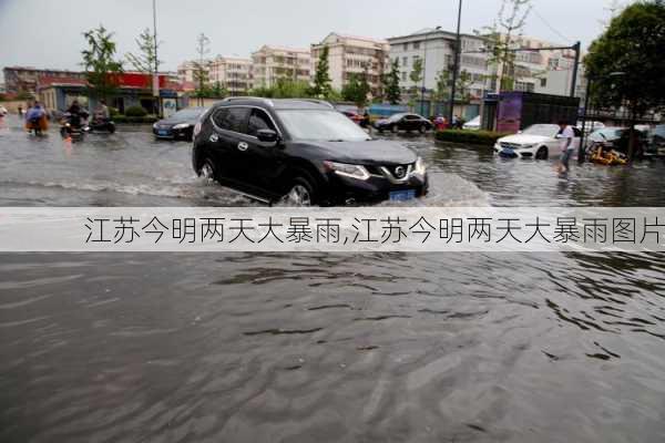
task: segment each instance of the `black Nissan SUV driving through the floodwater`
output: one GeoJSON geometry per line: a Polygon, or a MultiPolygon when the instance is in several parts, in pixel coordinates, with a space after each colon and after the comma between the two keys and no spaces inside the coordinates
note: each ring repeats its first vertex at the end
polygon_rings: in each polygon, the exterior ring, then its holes
{"type": "Polygon", "coordinates": [[[194,128],[194,171],[265,203],[340,205],[427,193],[424,162],[371,138],[329,103],[226,99],[194,128]]]}

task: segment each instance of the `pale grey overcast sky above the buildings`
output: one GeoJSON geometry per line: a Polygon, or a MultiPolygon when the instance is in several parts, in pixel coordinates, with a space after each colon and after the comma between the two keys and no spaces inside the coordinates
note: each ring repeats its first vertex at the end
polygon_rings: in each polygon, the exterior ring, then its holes
{"type": "MultiPolygon", "coordinates": [[[[611,0],[532,0],[525,34],[583,47],[602,31],[611,0]]],[[[464,0],[462,32],[491,24],[501,0],[464,0]]],[[[458,0],[157,0],[163,68],[195,56],[196,35],[211,39],[211,55],[248,56],[262,44],[309,48],[329,32],[371,38],[427,27],[454,30],[458,0]]],[[[152,27],[152,0],[0,0],[0,68],[80,69],[81,33],[103,23],[119,53],[152,27]]]]}

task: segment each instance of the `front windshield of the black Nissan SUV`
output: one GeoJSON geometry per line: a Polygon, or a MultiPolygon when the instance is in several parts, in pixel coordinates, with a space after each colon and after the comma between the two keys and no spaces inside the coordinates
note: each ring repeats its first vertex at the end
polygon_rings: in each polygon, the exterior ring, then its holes
{"type": "Polygon", "coordinates": [[[361,142],[369,135],[337,111],[277,111],[294,140],[361,142]]]}

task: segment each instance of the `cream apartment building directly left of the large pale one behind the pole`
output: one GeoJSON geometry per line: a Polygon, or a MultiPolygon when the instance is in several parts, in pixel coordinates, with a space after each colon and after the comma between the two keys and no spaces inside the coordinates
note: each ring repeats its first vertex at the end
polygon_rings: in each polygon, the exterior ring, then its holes
{"type": "Polygon", "coordinates": [[[390,52],[387,41],[332,32],[320,43],[311,45],[313,71],[316,71],[325,47],[328,47],[328,74],[332,87],[341,90],[354,74],[361,74],[367,70],[372,94],[380,93],[381,75],[387,70],[390,52]]]}

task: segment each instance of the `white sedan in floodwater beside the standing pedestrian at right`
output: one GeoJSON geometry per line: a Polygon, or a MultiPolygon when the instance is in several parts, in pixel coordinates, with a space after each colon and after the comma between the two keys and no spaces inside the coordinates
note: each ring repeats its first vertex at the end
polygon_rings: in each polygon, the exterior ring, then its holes
{"type": "MultiPolygon", "coordinates": [[[[561,141],[557,138],[560,127],[555,124],[535,124],[514,135],[497,141],[494,152],[503,157],[548,159],[561,156],[561,141]]],[[[573,127],[575,138],[573,148],[580,148],[582,133],[573,127]]]]}

